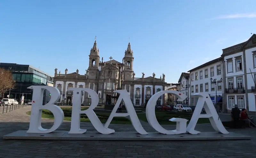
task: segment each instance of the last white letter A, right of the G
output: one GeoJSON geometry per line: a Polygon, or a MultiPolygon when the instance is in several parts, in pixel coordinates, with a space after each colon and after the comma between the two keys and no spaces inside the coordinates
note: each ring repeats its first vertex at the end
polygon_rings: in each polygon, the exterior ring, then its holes
{"type": "Polygon", "coordinates": [[[187,132],[190,134],[198,134],[201,133],[195,130],[196,123],[199,118],[209,118],[212,127],[215,131],[220,132],[222,134],[228,134],[228,131],[223,126],[222,122],[219,119],[219,115],[212,103],[212,100],[209,97],[208,93],[196,93],[193,96],[198,97],[198,101],[196,103],[195,111],[190,119],[190,122],[187,126],[187,132]],[[204,106],[205,105],[205,106],[204,106]],[[206,114],[201,114],[202,109],[205,109],[206,114]]]}

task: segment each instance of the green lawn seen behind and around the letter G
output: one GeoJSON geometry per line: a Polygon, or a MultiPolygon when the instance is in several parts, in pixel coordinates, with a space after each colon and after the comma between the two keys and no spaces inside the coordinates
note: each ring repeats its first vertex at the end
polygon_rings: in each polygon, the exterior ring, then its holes
{"type": "MultiPolygon", "coordinates": [[[[137,114],[138,118],[142,121],[148,122],[146,114],[137,114]]],[[[192,113],[185,112],[172,112],[172,111],[156,111],[156,119],[160,125],[176,125],[176,122],[169,121],[172,118],[182,118],[190,120],[192,113]]],[[[187,122],[189,123],[189,121],[187,122]]],[[[201,118],[198,119],[198,124],[210,123],[209,119],[201,118]]]]}

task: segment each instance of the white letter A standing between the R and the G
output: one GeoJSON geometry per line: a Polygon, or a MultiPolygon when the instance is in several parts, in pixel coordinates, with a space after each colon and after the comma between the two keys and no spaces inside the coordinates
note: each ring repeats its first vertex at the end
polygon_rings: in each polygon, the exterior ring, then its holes
{"type": "Polygon", "coordinates": [[[114,117],[130,116],[132,126],[134,127],[134,129],[140,134],[148,134],[141,126],[140,120],[136,114],[136,111],[133,107],[132,101],[127,93],[127,90],[115,90],[114,93],[119,93],[120,95],[118,97],[118,100],[116,101],[116,105],[114,106],[111,114],[109,115],[107,122],[105,123],[105,128],[108,128],[110,122],[114,117]],[[124,106],[127,110],[127,113],[116,113],[116,110],[118,106],[121,104],[122,99],[124,101],[124,106]]]}

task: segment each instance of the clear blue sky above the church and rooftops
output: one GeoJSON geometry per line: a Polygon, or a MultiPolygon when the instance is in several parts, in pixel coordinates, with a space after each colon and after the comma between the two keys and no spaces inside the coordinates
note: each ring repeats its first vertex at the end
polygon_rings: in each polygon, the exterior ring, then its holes
{"type": "Polygon", "coordinates": [[[88,68],[97,36],[100,58],[121,61],[129,38],[135,77],[181,72],[218,58],[256,33],[255,0],[1,0],[0,60],[54,75],[88,68]]]}

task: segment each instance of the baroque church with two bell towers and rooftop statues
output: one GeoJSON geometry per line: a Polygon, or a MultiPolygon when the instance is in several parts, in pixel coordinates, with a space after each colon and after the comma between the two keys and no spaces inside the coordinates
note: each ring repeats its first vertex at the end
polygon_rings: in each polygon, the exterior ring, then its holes
{"type": "MultiPolygon", "coordinates": [[[[112,57],[109,61],[100,61],[100,52],[97,48],[96,40],[91,49],[89,55],[89,67],[84,75],[80,75],[78,69],[74,73],[68,73],[66,68],[65,74],[61,74],[58,69],[55,69],[54,74],[54,87],[60,90],[60,100],[62,104],[72,104],[73,91],[69,88],[90,88],[97,92],[99,96],[99,104],[115,104],[116,99],[112,98],[116,96],[113,93],[118,88],[119,82],[121,88],[127,90],[134,106],[146,106],[148,100],[156,92],[164,90],[164,86],[167,84],[164,82],[165,75],[156,78],[155,73],[152,76],[135,78],[133,71],[133,51],[131,49],[130,42],[125,51],[125,55],[122,62],[113,60],[112,57]],[[120,73],[119,73],[120,71],[120,73]],[[120,77],[119,77],[120,74],[120,77]],[[118,82],[119,79],[119,82],[118,82]]],[[[89,105],[91,103],[91,96],[84,92],[81,98],[82,105],[89,105]]],[[[159,97],[156,104],[165,104],[164,95],[159,97]]]]}

